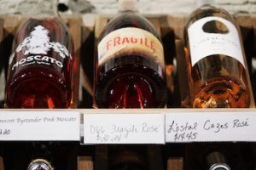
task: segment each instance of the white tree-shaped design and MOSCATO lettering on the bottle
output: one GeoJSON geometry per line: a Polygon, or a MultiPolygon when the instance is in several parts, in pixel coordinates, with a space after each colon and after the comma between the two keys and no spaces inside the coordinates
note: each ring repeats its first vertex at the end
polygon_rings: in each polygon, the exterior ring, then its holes
{"type": "Polygon", "coordinates": [[[49,31],[44,26],[36,26],[29,36],[21,42],[14,53],[9,58],[9,65],[13,64],[16,54],[21,53],[21,57],[15,59],[15,63],[11,66],[11,71],[16,67],[25,65],[56,65],[63,67],[63,59],[66,57],[72,59],[68,50],[60,42],[50,42],[49,31]],[[50,50],[59,54],[62,59],[56,59],[48,56],[50,50]]]}

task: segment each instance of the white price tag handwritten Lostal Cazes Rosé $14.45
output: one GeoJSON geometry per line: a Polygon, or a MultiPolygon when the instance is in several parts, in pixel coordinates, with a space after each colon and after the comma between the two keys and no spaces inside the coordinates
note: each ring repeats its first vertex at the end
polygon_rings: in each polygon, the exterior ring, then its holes
{"type": "Polygon", "coordinates": [[[256,141],[255,112],[166,113],[166,142],[256,141]]]}

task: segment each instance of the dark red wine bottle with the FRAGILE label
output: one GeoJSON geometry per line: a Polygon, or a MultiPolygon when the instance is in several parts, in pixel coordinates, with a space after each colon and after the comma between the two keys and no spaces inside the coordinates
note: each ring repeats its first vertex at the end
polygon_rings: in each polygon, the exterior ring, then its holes
{"type": "Polygon", "coordinates": [[[100,108],[166,105],[163,47],[154,26],[137,13],[137,0],[119,0],[119,14],[98,40],[95,103],[100,108]]]}

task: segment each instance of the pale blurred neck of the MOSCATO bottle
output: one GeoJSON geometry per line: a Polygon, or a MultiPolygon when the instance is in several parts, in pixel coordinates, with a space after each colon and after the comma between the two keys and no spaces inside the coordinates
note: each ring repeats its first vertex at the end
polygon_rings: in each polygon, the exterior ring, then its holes
{"type": "Polygon", "coordinates": [[[58,14],[58,0],[38,0],[33,15],[39,18],[53,18],[58,14]]]}

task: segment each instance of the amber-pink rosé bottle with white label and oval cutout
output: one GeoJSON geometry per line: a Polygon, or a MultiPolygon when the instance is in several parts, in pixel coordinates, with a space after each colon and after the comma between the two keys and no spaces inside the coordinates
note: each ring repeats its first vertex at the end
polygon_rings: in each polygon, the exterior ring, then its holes
{"type": "Polygon", "coordinates": [[[191,106],[244,108],[251,105],[239,28],[228,12],[205,4],[185,26],[185,57],[191,106]]]}

